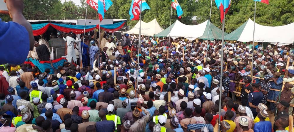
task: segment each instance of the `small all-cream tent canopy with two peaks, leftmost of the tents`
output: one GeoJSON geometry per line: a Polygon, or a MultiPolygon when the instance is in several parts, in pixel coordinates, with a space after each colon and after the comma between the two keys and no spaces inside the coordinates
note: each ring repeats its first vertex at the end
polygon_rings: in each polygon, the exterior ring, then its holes
{"type": "MultiPolygon", "coordinates": [[[[128,34],[139,34],[140,21],[129,31],[128,34]]],[[[141,20],[141,35],[153,36],[154,34],[160,33],[163,28],[158,24],[156,19],[146,23],[141,20]]]]}

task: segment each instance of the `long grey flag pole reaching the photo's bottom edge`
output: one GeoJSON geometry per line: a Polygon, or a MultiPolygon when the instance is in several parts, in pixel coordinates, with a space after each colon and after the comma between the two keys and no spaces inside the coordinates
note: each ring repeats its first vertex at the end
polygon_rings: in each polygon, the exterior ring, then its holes
{"type": "MultiPolygon", "coordinates": [[[[225,12],[223,13],[223,33],[222,33],[222,43],[221,43],[221,60],[220,60],[220,88],[223,87],[223,45],[225,44],[224,43],[224,34],[225,34],[225,12]]],[[[219,111],[221,110],[221,95],[222,95],[222,92],[220,91],[220,103],[219,103],[219,111]]],[[[220,123],[220,114],[219,114],[219,117],[218,117],[218,123],[220,123]]],[[[218,128],[218,131],[220,131],[220,125],[219,125],[219,128],[218,128]]]]}

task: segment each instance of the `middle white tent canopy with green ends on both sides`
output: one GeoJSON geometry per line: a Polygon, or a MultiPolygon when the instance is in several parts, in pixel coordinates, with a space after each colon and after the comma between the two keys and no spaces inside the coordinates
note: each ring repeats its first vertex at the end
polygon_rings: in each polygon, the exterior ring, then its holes
{"type": "MultiPolygon", "coordinates": [[[[186,25],[177,20],[175,23],[171,25],[171,27],[166,28],[164,31],[156,34],[155,36],[158,36],[158,37],[170,36],[173,39],[184,37],[189,40],[194,40],[196,38],[207,39],[208,31],[209,31],[210,40],[217,39],[221,37],[222,35],[222,30],[220,30],[218,27],[213,25],[213,23],[211,22],[210,22],[210,28],[209,28],[208,20],[198,25],[186,25]]],[[[227,34],[228,33],[225,33],[225,35],[227,34]]]]}

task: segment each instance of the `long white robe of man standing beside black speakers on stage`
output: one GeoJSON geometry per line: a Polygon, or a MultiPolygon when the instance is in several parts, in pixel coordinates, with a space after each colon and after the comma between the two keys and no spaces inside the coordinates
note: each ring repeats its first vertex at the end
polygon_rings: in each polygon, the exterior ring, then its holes
{"type": "Polygon", "coordinates": [[[74,60],[74,62],[77,61],[76,59],[76,53],[74,50],[74,43],[81,42],[81,39],[75,40],[74,38],[71,38],[70,36],[67,36],[66,38],[63,38],[64,41],[67,43],[67,62],[71,62],[71,59],[74,60]]]}

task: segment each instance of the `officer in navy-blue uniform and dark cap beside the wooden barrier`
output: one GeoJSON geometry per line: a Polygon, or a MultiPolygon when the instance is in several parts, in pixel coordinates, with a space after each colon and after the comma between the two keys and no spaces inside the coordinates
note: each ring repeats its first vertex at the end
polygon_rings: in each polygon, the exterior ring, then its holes
{"type": "Polygon", "coordinates": [[[247,102],[247,107],[249,107],[252,111],[252,114],[254,117],[257,116],[256,108],[258,104],[261,102],[263,99],[263,93],[259,91],[259,84],[253,83],[252,89],[253,92],[251,92],[248,89],[245,89],[245,92],[248,93],[248,102],[247,102]]]}

